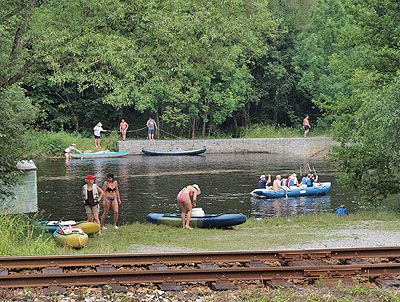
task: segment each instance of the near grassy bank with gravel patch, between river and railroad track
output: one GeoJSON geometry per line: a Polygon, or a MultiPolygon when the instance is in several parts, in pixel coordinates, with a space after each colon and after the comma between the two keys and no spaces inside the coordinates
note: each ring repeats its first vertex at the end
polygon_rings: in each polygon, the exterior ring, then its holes
{"type": "Polygon", "coordinates": [[[400,230],[400,219],[390,212],[359,212],[346,217],[312,214],[265,220],[249,219],[231,229],[183,230],[177,227],[134,223],[119,230],[109,228],[90,238],[82,250],[57,246],[51,234],[41,234],[25,215],[0,216],[0,255],[75,253],[163,252],[185,250],[256,250],[302,248],[324,242],[347,240],[343,232],[354,230],[351,239],[365,232],[400,230]]]}

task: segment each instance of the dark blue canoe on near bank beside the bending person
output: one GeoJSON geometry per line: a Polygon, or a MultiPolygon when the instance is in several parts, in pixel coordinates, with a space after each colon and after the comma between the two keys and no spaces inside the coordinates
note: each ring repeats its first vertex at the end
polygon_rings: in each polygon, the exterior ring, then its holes
{"type": "MultiPolygon", "coordinates": [[[[157,214],[150,213],[146,220],[155,224],[167,224],[182,226],[181,214],[157,214]]],[[[204,216],[192,217],[191,227],[198,228],[226,228],[246,222],[243,214],[206,214],[204,216]]]]}

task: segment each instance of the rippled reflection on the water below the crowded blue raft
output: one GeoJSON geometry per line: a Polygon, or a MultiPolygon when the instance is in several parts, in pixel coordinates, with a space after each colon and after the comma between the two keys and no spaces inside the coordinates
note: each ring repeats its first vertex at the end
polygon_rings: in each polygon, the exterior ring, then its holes
{"type": "Polygon", "coordinates": [[[330,195],[286,198],[251,197],[252,214],[257,217],[291,216],[331,210],[330,195]]]}

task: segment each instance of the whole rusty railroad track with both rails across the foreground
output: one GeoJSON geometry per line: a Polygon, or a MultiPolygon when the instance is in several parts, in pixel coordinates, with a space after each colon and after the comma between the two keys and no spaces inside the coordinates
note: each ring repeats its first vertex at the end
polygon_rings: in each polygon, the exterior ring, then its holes
{"type": "Polygon", "coordinates": [[[285,251],[180,252],[0,257],[0,288],[157,284],[179,290],[180,283],[233,289],[235,282],[337,284],[354,279],[400,286],[400,247],[285,251]]]}

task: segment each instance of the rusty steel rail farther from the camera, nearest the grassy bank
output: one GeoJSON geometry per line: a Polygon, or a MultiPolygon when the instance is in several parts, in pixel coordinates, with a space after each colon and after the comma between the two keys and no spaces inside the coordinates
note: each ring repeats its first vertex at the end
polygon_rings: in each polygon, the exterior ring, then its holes
{"type": "Polygon", "coordinates": [[[82,254],[48,256],[0,257],[0,267],[5,269],[43,268],[52,264],[59,267],[98,266],[105,261],[115,266],[146,265],[154,262],[164,264],[201,263],[206,258],[214,262],[291,261],[301,259],[352,259],[352,258],[396,258],[400,247],[306,249],[282,251],[228,251],[228,252],[174,252],[174,253],[130,253],[130,254],[82,254]]]}

